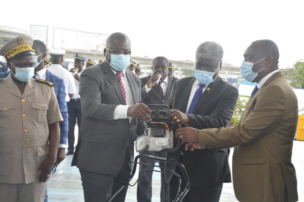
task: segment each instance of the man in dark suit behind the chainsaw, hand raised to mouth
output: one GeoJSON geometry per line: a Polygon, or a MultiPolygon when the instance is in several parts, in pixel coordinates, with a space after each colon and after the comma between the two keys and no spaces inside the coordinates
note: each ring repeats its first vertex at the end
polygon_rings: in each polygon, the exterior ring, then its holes
{"type": "MultiPolygon", "coordinates": [[[[169,97],[171,95],[172,87],[178,78],[170,76],[169,73],[169,61],[165,57],[156,57],[152,62],[152,76],[146,76],[141,78],[141,102],[145,105],[168,105],[169,97]],[[161,79],[158,85],[155,85],[156,80],[161,74],[161,79]]],[[[166,153],[162,151],[148,151],[143,150],[141,154],[151,155],[156,157],[166,157],[166,153]]],[[[153,169],[155,161],[141,159],[140,162],[150,164],[151,166],[142,165],[139,166],[139,173],[145,169],[153,169]]],[[[164,166],[163,162],[160,162],[160,166],[164,166]]],[[[162,169],[163,170],[163,169],[162,169]]],[[[137,186],[137,201],[150,202],[152,197],[152,174],[151,171],[145,171],[140,174],[138,178],[137,186]]],[[[165,182],[164,174],[162,173],[161,181],[161,202],[169,201],[169,184],[165,182]]]]}

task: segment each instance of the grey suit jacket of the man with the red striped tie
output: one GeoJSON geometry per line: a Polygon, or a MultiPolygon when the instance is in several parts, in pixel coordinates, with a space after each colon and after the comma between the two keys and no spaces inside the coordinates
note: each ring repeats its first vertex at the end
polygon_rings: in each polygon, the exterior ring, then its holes
{"type": "MultiPolygon", "coordinates": [[[[126,70],[135,104],[140,102],[140,79],[126,70]]],[[[127,147],[133,159],[137,118],[113,120],[118,105],[126,105],[117,76],[106,62],[85,69],[80,77],[82,125],[72,166],[115,175],[124,162],[127,147]]]]}

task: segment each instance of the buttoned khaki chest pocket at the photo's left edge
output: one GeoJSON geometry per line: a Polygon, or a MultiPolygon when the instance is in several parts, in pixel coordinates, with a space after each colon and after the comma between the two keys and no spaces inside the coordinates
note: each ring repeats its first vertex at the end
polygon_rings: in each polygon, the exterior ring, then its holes
{"type": "Polygon", "coordinates": [[[15,121],[15,117],[16,103],[0,104],[0,125],[13,123],[15,121]]]}

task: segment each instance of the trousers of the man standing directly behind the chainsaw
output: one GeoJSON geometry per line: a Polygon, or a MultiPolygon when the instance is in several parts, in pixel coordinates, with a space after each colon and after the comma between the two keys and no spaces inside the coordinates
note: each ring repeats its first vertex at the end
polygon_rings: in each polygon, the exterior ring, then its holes
{"type": "MultiPolygon", "coordinates": [[[[159,152],[159,151],[148,151],[143,150],[140,154],[144,155],[151,155],[155,157],[162,157],[166,158],[166,153],[159,152]]],[[[152,175],[153,171],[144,171],[145,169],[154,169],[155,160],[150,159],[140,159],[140,163],[150,164],[148,165],[139,165],[139,177],[138,177],[138,184],[137,184],[137,201],[140,202],[150,202],[152,198],[152,175]]],[[[165,163],[160,162],[160,166],[164,167],[165,163]]],[[[161,168],[164,171],[163,168],[161,168]]],[[[164,173],[161,174],[161,202],[168,202],[169,201],[169,184],[165,182],[164,173]]]]}

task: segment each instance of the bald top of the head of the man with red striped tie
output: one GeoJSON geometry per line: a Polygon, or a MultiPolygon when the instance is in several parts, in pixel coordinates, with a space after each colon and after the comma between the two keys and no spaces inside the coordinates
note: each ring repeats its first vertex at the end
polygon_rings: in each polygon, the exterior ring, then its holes
{"type": "Polygon", "coordinates": [[[112,33],[106,40],[106,47],[110,49],[119,49],[118,47],[124,46],[126,49],[131,49],[129,37],[121,32],[112,33]]]}

